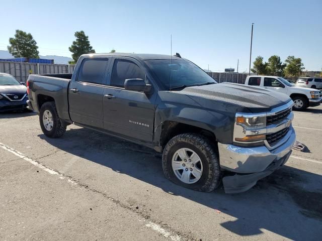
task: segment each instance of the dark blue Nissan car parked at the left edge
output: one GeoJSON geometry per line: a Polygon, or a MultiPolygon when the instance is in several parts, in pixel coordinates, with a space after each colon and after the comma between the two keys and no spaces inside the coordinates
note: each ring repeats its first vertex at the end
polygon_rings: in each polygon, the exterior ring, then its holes
{"type": "Polygon", "coordinates": [[[14,76],[0,73],[0,112],[27,110],[27,88],[14,76]]]}

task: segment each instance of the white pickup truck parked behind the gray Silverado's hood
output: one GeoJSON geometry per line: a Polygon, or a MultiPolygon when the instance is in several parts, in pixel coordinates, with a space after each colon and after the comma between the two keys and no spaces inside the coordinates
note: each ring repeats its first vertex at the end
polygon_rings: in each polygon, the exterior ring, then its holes
{"type": "Polygon", "coordinates": [[[251,75],[246,78],[245,84],[287,94],[294,101],[294,110],[303,110],[309,106],[317,106],[322,101],[321,91],[311,88],[296,87],[282,77],[251,75]]]}

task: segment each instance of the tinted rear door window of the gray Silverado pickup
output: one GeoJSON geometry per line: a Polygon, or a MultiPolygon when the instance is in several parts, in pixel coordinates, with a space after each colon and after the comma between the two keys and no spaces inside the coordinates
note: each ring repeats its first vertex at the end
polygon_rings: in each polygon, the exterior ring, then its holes
{"type": "Polygon", "coordinates": [[[108,59],[85,59],[79,69],[79,82],[102,84],[108,59]]]}

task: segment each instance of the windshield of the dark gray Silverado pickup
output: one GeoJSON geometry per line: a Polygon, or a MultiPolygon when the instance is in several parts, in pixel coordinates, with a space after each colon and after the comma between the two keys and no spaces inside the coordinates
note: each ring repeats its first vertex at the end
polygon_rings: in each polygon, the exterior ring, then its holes
{"type": "Polygon", "coordinates": [[[144,61],[163,90],[217,83],[194,63],[184,59],[157,59],[144,61]],[[170,83],[171,82],[171,83],[170,83]]]}

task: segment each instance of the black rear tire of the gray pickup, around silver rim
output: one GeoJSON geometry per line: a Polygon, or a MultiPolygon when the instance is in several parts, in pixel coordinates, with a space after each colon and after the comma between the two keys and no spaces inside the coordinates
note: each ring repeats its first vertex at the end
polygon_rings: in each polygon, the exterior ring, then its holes
{"type": "Polygon", "coordinates": [[[60,122],[60,118],[57,113],[55,102],[45,102],[41,108],[39,113],[39,122],[42,132],[50,138],[58,138],[64,135],[66,131],[66,126],[63,126],[60,122]],[[50,131],[46,130],[43,123],[43,114],[45,110],[49,110],[52,114],[53,119],[53,127],[50,131]]]}

